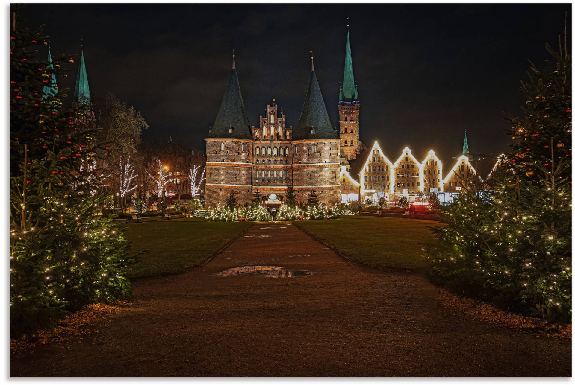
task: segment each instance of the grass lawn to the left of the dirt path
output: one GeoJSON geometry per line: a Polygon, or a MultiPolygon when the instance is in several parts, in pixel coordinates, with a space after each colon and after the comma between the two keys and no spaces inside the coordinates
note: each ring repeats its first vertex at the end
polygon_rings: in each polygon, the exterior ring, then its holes
{"type": "Polygon", "coordinates": [[[205,222],[201,218],[129,224],[124,234],[130,253],[139,257],[128,278],[174,274],[196,267],[212,257],[253,222],[205,222]]]}

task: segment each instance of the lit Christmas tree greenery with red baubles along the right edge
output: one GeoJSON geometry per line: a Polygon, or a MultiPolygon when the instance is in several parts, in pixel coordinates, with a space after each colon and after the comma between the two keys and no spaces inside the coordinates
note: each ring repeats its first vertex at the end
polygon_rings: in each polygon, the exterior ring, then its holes
{"type": "MultiPolygon", "coordinates": [[[[560,42],[561,43],[561,42],[560,42]]],[[[571,60],[566,41],[553,62],[531,64],[523,118],[510,118],[513,152],[493,186],[463,183],[443,206],[447,227],[427,247],[431,278],[505,310],[571,319],[571,60]]]]}

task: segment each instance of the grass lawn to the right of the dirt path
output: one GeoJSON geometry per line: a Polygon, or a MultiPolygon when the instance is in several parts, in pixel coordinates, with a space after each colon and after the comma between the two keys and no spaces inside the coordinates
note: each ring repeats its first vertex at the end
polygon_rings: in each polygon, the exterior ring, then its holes
{"type": "Polygon", "coordinates": [[[427,267],[421,247],[431,241],[429,227],[438,226],[432,222],[362,215],[294,224],[363,265],[421,271],[427,267]]]}

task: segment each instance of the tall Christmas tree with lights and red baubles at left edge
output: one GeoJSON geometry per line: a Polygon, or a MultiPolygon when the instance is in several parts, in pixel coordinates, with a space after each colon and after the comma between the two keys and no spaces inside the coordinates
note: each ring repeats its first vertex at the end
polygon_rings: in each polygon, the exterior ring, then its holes
{"type": "Polygon", "coordinates": [[[10,334],[130,291],[127,242],[99,205],[86,106],[64,109],[56,80],[71,57],[35,59],[42,30],[10,33],[10,334]]]}

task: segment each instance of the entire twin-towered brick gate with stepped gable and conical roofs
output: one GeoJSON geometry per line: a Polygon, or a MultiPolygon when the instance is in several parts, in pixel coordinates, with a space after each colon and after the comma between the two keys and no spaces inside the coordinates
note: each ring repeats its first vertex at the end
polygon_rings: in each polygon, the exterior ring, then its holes
{"type": "Polygon", "coordinates": [[[313,190],[321,203],[339,203],[340,138],[329,121],[313,57],[297,127],[288,127],[278,109],[275,101],[267,105],[259,126],[250,129],[234,60],[216,121],[205,138],[206,206],[223,204],[232,193],[241,206],[254,193],[281,196],[290,186],[297,201],[305,202],[313,190]]]}

